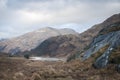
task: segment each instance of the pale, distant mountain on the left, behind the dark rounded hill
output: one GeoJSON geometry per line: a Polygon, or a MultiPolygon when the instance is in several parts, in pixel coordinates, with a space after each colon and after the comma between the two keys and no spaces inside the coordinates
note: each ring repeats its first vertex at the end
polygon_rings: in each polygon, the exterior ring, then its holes
{"type": "Polygon", "coordinates": [[[11,54],[30,51],[50,37],[67,34],[78,35],[78,33],[74,30],[67,28],[60,30],[50,27],[42,28],[33,32],[26,33],[19,37],[1,41],[0,51],[11,54]]]}

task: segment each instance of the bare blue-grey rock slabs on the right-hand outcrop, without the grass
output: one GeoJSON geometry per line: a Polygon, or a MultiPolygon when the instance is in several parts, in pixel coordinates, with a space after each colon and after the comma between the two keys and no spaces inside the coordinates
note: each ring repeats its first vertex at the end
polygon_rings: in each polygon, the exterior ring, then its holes
{"type": "Polygon", "coordinates": [[[92,54],[96,53],[106,45],[109,45],[109,47],[105,52],[103,52],[103,55],[96,59],[94,63],[96,68],[105,67],[109,62],[112,50],[120,46],[120,23],[109,25],[101,30],[98,36],[94,38],[90,48],[84,53],[82,59],[88,59],[92,54]]]}

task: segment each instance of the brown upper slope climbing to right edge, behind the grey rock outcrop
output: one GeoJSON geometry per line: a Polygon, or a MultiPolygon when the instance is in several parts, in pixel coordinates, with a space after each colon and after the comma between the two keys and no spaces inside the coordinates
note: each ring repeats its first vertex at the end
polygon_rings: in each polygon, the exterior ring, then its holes
{"type": "Polygon", "coordinates": [[[94,25],[93,27],[91,27],[87,31],[81,33],[79,35],[79,37],[80,37],[81,41],[84,41],[82,44],[84,44],[85,46],[83,46],[83,47],[85,48],[86,45],[88,46],[91,43],[91,41],[93,40],[93,38],[95,36],[97,36],[99,31],[101,31],[103,28],[105,28],[106,26],[108,26],[110,24],[114,24],[117,22],[120,22],[120,13],[109,17],[108,19],[106,19],[102,23],[94,25]]]}

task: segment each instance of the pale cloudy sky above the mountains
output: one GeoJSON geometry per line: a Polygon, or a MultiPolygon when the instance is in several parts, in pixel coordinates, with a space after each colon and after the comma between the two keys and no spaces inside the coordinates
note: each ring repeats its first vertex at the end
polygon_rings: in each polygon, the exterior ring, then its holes
{"type": "Polygon", "coordinates": [[[81,33],[120,13],[120,0],[0,0],[0,38],[43,27],[81,33]]]}

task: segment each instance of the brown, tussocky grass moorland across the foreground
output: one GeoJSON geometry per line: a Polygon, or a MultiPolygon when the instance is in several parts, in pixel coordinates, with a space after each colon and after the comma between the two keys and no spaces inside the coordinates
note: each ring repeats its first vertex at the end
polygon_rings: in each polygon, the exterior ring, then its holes
{"type": "Polygon", "coordinates": [[[0,80],[120,80],[115,66],[98,70],[92,67],[93,60],[67,63],[0,57],[0,80]]]}

